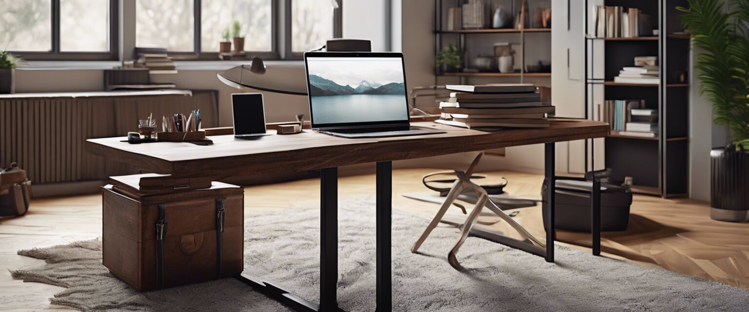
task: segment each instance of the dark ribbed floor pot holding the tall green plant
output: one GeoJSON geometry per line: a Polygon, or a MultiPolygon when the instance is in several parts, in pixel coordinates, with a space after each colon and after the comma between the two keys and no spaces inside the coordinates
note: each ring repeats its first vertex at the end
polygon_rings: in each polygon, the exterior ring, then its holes
{"type": "Polygon", "coordinates": [[[733,146],[710,151],[710,218],[745,221],[749,213],[749,152],[733,146]]]}

